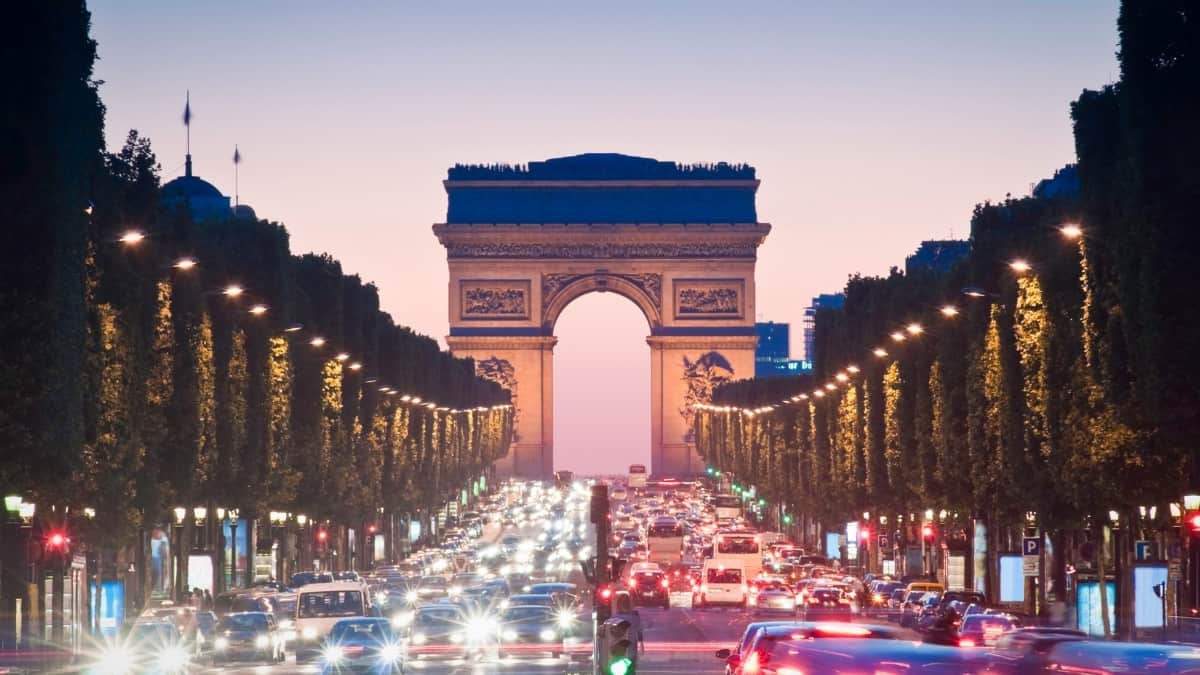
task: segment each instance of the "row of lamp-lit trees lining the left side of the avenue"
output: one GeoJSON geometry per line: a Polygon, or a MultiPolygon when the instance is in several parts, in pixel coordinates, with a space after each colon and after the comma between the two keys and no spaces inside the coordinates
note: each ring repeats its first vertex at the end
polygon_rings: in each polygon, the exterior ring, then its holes
{"type": "Polygon", "coordinates": [[[83,4],[23,11],[0,181],[5,495],[124,569],[180,506],[361,531],[508,452],[508,392],[394,323],[374,286],[293,255],[282,225],[161,207],[149,141],[104,149],[83,4]]]}

